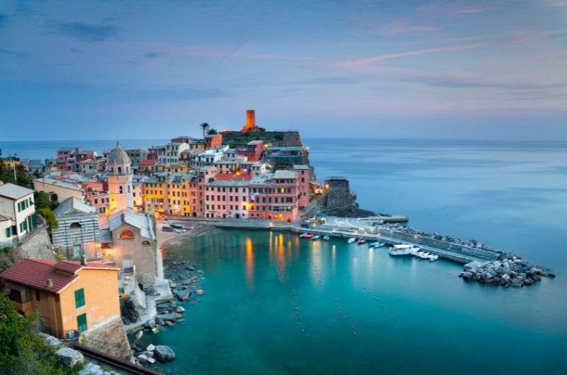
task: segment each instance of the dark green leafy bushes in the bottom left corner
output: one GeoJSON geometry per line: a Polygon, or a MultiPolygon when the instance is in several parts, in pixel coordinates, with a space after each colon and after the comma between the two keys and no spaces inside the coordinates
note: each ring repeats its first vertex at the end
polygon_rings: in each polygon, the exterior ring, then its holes
{"type": "Polygon", "coordinates": [[[0,374],[77,374],[57,362],[55,347],[39,333],[36,314],[21,316],[16,304],[0,293],[0,374]]]}

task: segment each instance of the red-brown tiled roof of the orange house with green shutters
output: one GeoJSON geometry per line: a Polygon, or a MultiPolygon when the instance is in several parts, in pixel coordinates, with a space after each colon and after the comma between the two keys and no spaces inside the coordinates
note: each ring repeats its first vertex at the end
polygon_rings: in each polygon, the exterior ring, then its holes
{"type": "Polygon", "coordinates": [[[98,262],[80,262],[71,260],[49,260],[28,258],[12,265],[8,270],[2,272],[0,277],[18,284],[42,289],[47,292],[59,293],[64,287],[71,284],[78,277],[77,273],[83,268],[99,268],[103,270],[119,270],[111,265],[98,262]],[[63,272],[62,272],[63,271],[63,272]],[[47,279],[52,279],[53,287],[47,288],[47,279]]]}

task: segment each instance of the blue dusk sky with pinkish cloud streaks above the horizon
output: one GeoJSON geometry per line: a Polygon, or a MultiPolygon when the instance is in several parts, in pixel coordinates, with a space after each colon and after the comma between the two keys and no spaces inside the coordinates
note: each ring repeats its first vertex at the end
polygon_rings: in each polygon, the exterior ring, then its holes
{"type": "Polygon", "coordinates": [[[567,139],[567,0],[0,0],[0,138],[567,139]]]}

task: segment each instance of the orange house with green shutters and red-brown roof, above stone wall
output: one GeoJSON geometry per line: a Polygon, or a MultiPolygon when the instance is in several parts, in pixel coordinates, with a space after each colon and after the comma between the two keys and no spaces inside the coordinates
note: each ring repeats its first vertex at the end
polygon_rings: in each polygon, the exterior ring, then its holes
{"type": "Polygon", "coordinates": [[[120,318],[118,270],[97,262],[29,258],[0,277],[18,311],[39,313],[47,332],[64,338],[120,318]]]}

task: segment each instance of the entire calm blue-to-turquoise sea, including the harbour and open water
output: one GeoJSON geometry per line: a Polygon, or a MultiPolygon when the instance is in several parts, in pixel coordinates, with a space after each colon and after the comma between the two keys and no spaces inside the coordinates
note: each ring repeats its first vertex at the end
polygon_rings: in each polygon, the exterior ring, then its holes
{"type": "MultiPolygon", "coordinates": [[[[62,146],[2,142],[4,155],[62,146]]],[[[123,140],[125,148],[164,140],[123,140]]],[[[305,139],[318,180],[349,178],[364,209],[474,238],[553,270],[532,287],[458,277],[462,265],[277,231],[214,230],[167,250],[203,270],[167,374],[567,374],[567,142],[305,139]]]]}

